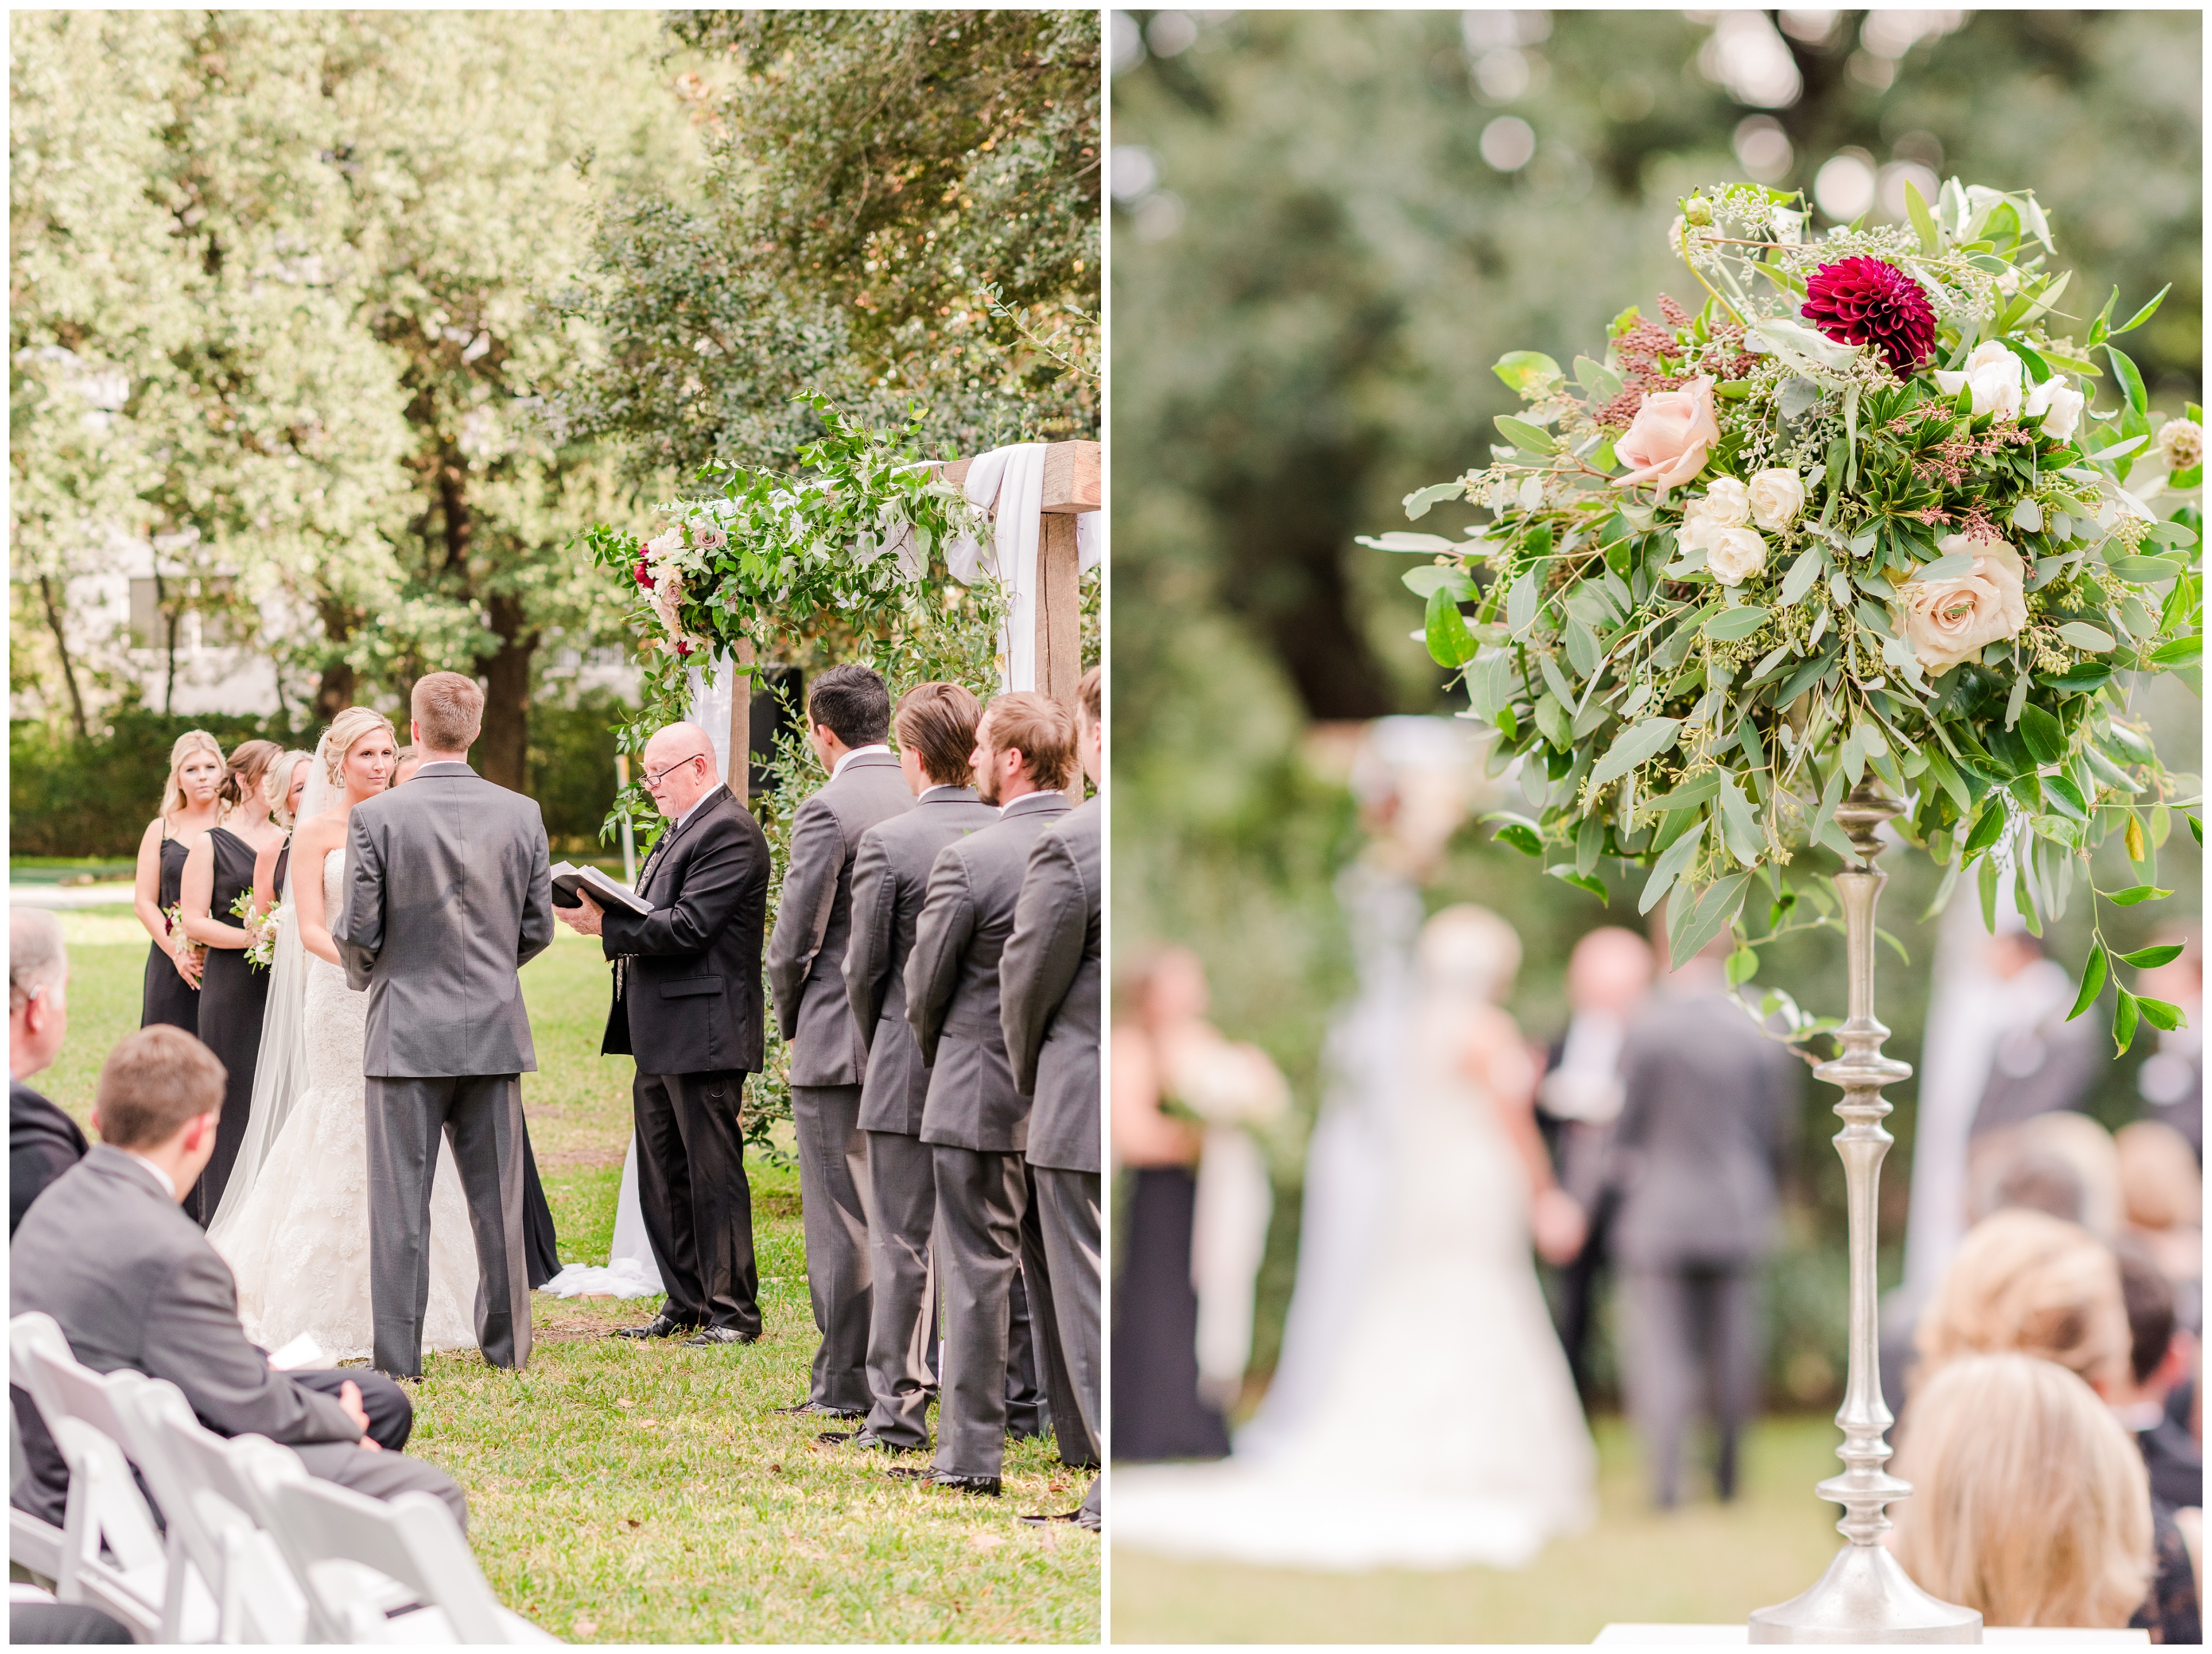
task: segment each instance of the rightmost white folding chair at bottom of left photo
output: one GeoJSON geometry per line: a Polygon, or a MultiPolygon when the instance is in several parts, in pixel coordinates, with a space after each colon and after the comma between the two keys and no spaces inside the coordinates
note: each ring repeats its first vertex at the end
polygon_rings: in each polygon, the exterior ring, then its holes
{"type": "Polygon", "coordinates": [[[453,1512],[429,1493],[389,1504],[334,1482],[261,1482],[274,1532],[316,1608],[347,1643],[557,1643],[500,1608],[453,1512]],[[407,1603],[392,1605],[389,1585],[407,1603]]]}

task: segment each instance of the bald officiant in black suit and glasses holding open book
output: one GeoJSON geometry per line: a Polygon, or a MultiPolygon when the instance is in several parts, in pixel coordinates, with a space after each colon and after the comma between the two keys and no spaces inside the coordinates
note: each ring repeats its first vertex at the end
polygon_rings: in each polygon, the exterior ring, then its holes
{"type": "Polygon", "coordinates": [[[637,1203],[668,1302],[615,1338],[750,1344],[761,1302],[739,1103],[745,1075],[761,1070],[768,840],[721,785],[697,723],[646,743],[644,783],[668,816],[637,876],[653,911],[602,909],[584,893],[555,907],[615,962],[599,1050],[637,1059],[637,1203]]]}

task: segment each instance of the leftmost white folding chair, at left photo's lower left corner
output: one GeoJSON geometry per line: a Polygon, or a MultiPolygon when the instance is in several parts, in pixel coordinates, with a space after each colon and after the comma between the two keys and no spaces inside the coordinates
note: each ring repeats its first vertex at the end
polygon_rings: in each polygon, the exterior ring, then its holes
{"type": "Polygon", "coordinates": [[[131,1479],[122,1420],[144,1373],[95,1373],[69,1353],[60,1327],[24,1347],[27,1386],[69,1464],[62,1566],[53,1594],[113,1614],[142,1643],[206,1643],[215,1599],[190,1566],[173,1579],[153,1512],[131,1479]],[[113,1561],[111,1561],[113,1559],[113,1561]]]}

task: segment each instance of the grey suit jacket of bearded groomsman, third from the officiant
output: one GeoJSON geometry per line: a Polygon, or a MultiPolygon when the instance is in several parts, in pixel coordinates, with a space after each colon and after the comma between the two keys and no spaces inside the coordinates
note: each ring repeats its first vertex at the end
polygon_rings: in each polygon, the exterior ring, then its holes
{"type": "Polygon", "coordinates": [[[907,955],[907,1022],[929,1064],[922,1141],[1020,1152],[1031,1097],[1013,1084],[998,1015],[998,955],[1037,834],[1068,814],[1057,792],[1031,792],[980,834],[938,851],[907,955]]]}

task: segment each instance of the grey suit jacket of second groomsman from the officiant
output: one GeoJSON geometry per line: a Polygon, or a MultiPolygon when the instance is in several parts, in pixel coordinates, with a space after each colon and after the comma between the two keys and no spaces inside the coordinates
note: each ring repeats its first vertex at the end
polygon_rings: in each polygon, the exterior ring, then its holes
{"type": "Polygon", "coordinates": [[[867,1048],[860,1130],[920,1137],[929,1066],[907,1026],[907,957],[929,893],[938,851],[998,820],[971,787],[922,794],[905,816],[860,834],[852,860],[852,942],[845,946],[845,1004],[867,1048]]]}

